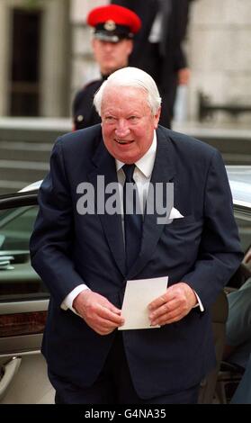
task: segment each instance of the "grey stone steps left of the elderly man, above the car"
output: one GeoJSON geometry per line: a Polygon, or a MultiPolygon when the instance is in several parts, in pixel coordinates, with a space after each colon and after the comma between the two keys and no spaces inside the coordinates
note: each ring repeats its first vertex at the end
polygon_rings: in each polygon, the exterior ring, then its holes
{"type": "Polygon", "coordinates": [[[63,118],[0,118],[0,194],[43,179],[55,140],[71,126],[63,118]]]}

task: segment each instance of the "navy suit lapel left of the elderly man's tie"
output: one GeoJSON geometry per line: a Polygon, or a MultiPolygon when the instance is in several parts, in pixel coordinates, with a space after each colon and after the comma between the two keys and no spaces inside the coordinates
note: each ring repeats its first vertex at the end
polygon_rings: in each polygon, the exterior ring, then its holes
{"type": "MultiPolygon", "coordinates": [[[[105,177],[105,186],[110,183],[118,182],[115,159],[109,154],[103,144],[103,139],[98,146],[94,155],[94,169],[88,175],[89,181],[94,185],[95,193],[97,193],[97,176],[105,177]]],[[[111,194],[110,194],[111,195],[111,194]]],[[[104,195],[104,203],[109,195],[104,195]]],[[[96,199],[95,199],[96,201],[96,199]]],[[[117,266],[121,274],[125,275],[125,251],[122,233],[121,214],[108,214],[104,210],[103,214],[99,214],[99,218],[103,225],[103,231],[107,239],[108,245],[112,251],[117,266]]]]}

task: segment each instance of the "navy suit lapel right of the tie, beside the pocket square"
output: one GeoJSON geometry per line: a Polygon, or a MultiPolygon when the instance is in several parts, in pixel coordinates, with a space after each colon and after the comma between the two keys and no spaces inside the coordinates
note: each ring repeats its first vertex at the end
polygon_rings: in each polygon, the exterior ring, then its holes
{"type": "MultiPolygon", "coordinates": [[[[165,184],[173,182],[175,176],[174,168],[174,151],[170,139],[161,127],[157,129],[157,156],[151,177],[151,184],[155,186],[157,183],[165,184]]],[[[166,187],[164,192],[164,202],[166,200],[166,187]]],[[[147,200],[147,202],[149,199],[147,200]]],[[[169,206],[169,212],[172,205],[169,206]]],[[[156,209],[156,208],[155,208],[156,209]]],[[[168,215],[169,212],[167,211],[168,215]]],[[[148,260],[153,256],[157,247],[158,239],[165,227],[165,224],[157,224],[157,211],[154,214],[145,214],[143,224],[142,243],[140,248],[139,257],[134,266],[130,269],[127,279],[132,279],[138,275],[140,270],[146,266],[148,260]]]]}

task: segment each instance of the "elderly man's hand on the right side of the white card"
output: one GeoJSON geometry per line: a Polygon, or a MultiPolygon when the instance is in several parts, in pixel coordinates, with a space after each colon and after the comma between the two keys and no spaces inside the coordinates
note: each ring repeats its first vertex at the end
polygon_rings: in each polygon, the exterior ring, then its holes
{"type": "Polygon", "coordinates": [[[180,282],[172,285],[148,305],[151,325],[163,326],[181,320],[196,303],[196,295],[188,284],[180,282]]]}

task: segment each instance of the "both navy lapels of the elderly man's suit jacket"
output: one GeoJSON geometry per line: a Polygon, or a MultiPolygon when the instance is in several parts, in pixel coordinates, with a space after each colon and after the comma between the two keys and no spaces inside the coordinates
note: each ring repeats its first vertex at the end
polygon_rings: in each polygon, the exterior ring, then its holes
{"type": "MultiPolygon", "coordinates": [[[[175,176],[174,160],[175,153],[171,141],[165,131],[161,127],[158,127],[157,156],[151,177],[151,183],[153,185],[173,182],[175,176]]],[[[98,175],[105,175],[105,186],[118,182],[115,160],[103,145],[103,140],[100,142],[94,155],[94,169],[88,175],[89,181],[94,185],[95,193],[97,192],[98,175]]],[[[164,189],[164,193],[166,193],[166,189],[164,189]]],[[[155,252],[158,239],[165,227],[165,224],[157,224],[157,217],[157,211],[154,214],[145,214],[139,257],[131,267],[129,274],[126,275],[127,279],[132,279],[138,275],[155,252]]],[[[112,251],[112,256],[121,274],[125,276],[126,266],[121,215],[116,213],[110,215],[104,211],[104,214],[99,214],[99,218],[101,219],[108,245],[112,251]]]]}

